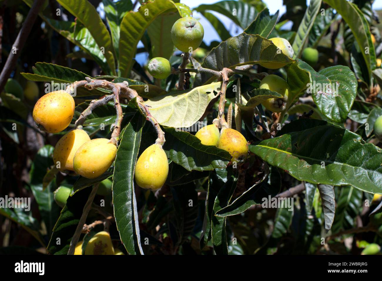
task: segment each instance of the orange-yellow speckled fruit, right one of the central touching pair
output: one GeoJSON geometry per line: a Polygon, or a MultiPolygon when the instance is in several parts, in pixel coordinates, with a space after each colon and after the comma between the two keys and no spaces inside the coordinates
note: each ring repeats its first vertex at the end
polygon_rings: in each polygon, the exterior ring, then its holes
{"type": "Polygon", "coordinates": [[[230,128],[222,128],[218,147],[227,150],[231,161],[245,160],[248,155],[248,142],[238,131],[230,128]]]}

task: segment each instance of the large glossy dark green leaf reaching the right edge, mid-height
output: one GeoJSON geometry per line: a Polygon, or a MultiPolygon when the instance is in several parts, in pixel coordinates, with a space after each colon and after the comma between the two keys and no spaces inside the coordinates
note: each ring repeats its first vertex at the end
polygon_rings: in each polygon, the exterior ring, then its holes
{"type": "MultiPolygon", "coordinates": [[[[317,121],[324,122],[311,120],[317,121]]],[[[300,120],[293,121],[290,127],[295,124],[299,127],[300,123],[300,120]]],[[[352,185],[366,192],[382,192],[381,149],[340,126],[327,123],[301,128],[301,131],[249,145],[249,150],[301,181],[352,185]]]]}

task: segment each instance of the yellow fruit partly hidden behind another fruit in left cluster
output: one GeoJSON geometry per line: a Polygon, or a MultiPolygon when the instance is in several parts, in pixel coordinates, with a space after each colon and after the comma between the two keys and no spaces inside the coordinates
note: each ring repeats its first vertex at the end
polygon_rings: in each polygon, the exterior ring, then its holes
{"type": "Polygon", "coordinates": [[[74,171],[74,154],[76,154],[81,145],[89,140],[90,137],[87,135],[87,132],[82,129],[72,130],[58,140],[53,152],[54,164],[56,166],[58,164],[57,162],[60,164],[60,168],[58,168],[58,170],[63,173],[74,171]]]}

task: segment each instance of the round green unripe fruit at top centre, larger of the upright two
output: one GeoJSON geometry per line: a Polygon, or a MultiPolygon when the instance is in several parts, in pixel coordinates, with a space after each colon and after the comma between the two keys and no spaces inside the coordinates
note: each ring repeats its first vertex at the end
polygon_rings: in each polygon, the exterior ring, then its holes
{"type": "Polygon", "coordinates": [[[196,50],[203,41],[204,29],[197,19],[187,16],[175,21],[171,29],[171,39],[182,52],[196,50]]]}

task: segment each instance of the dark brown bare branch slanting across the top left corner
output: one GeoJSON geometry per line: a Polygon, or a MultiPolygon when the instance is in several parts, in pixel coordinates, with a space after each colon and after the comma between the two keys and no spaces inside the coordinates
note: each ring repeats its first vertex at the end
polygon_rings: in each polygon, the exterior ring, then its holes
{"type": "Polygon", "coordinates": [[[35,0],[31,6],[31,9],[26,16],[26,19],[21,26],[19,34],[16,37],[15,43],[13,43],[14,48],[16,48],[16,52],[10,52],[8,58],[6,59],[4,68],[0,73],[0,92],[4,89],[5,83],[9,78],[11,72],[16,66],[16,61],[21,53],[21,50],[24,47],[26,39],[28,38],[29,33],[32,30],[33,24],[36,21],[37,15],[39,14],[39,10],[45,0],[35,0]]]}

